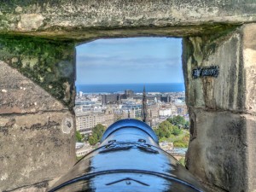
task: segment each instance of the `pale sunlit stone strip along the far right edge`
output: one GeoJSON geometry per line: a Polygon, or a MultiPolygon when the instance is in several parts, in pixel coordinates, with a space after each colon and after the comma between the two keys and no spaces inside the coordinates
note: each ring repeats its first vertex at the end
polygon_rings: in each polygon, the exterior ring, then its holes
{"type": "Polygon", "coordinates": [[[247,169],[249,191],[256,189],[256,24],[243,27],[242,61],[245,74],[245,107],[247,119],[247,169]]]}

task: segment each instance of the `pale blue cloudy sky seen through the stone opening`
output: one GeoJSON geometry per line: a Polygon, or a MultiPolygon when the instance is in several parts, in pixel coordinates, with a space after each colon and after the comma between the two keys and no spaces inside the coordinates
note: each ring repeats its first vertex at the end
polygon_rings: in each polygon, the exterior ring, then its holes
{"type": "Polygon", "coordinates": [[[181,38],[98,39],[76,51],[76,84],[183,83],[181,38]]]}

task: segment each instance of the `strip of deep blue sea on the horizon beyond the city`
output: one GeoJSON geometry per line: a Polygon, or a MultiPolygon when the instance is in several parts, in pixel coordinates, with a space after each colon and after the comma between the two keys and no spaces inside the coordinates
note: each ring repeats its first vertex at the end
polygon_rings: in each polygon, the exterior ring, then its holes
{"type": "Polygon", "coordinates": [[[76,84],[77,92],[84,93],[115,93],[125,90],[133,90],[136,93],[143,92],[145,85],[147,92],[182,92],[185,90],[183,83],[172,84],[76,84]]]}

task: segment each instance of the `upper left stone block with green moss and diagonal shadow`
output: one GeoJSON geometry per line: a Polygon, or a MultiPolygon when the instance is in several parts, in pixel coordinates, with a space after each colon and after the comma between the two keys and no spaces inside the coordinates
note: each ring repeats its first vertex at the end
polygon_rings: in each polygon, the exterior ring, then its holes
{"type": "MultiPolygon", "coordinates": [[[[12,101],[12,99],[16,100],[15,95],[10,96],[5,101],[7,111],[12,111],[9,109],[11,105],[13,105],[15,112],[20,110],[20,113],[22,113],[22,110],[25,112],[26,110],[31,111],[32,108],[36,110],[49,108],[47,110],[51,110],[53,109],[51,106],[54,99],[67,108],[73,108],[75,96],[75,50],[72,43],[53,42],[39,38],[1,37],[0,67],[2,69],[0,71],[2,76],[0,79],[3,81],[3,84],[1,84],[1,90],[3,91],[0,90],[1,93],[9,95],[11,91],[14,91],[14,94],[18,94],[21,97],[18,99],[20,104],[17,101],[18,106],[16,106],[15,101],[12,101]],[[12,70],[10,67],[16,70],[12,70]],[[18,72],[27,79],[23,78],[18,72]],[[10,81],[9,79],[14,80],[10,81]],[[33,84],[38,84],[42,89],[33,84]],[[36,93],[37,91],[38,93],[36,93]],[[29,95],[31,93],[32,96],[29,95]],[[38,96],[35,96],[36,94],[38,96]],[[41,94],[42,96],[39,98],[41,94]],[[24,95],[26,95],[27,101],[24,101],[24,95]],[[52,99],[47,98],[50,96],[52,96],[52,99]],[[44,107],[28,106],[34,105],[35,102],[40,105],[38,99],[45,103],[44,107]],[[52,100],[51,102],[49,102],[50,99],[52,100]],[[19,105],[22,105],[22,102],[26,105],[25,108],[20,108],[19,105]],[[48,107],[46,107],[47,102],[49,102],[48,107]]],[[[61,104],[57,104],[57,102],[54,105],[55,110],[65,108],[61,104]]]]}

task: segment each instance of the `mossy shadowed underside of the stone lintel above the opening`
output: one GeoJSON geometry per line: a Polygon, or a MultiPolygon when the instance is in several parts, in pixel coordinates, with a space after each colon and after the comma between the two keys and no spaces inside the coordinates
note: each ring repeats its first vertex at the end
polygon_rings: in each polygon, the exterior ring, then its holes
{"type": "Polygon", "coordinates": [[[98,38],[137,38],[137,37],[195,37],[202,35],[216,35],[230,32],[241,23],[226,24],[213,23],[187,26],[119,26],[119,27],[86,27],[65,30],[63,27],[56,27],[48,31],[39,32],[3,32],[0,35],[13,37],[36,37],[62,42],[85,43],[98,38]]]}

